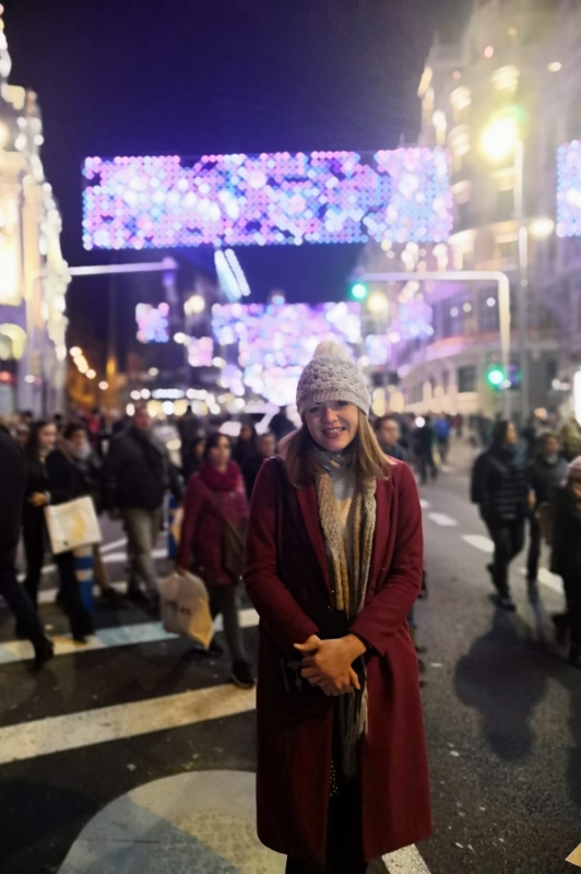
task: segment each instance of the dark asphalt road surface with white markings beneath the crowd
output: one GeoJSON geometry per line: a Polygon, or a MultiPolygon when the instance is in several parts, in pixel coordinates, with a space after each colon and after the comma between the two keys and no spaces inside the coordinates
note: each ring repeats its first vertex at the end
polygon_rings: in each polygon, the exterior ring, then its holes
{"type": "MultiPolygon", "coordinates": [[[[417,619],[435,831],[388,867],[572,872],[565,860],[581,843],[581,674],[526,602],[524,555],[512,570],[518,612],[490,602],[490,543],[465,472],[452,466],[420,492],[429,597],[417,619]]],[[[107,523],[105,535],[121,582],[122,531],[107,523]]],[[[162,538],[161,574],[164,550],[162,538]]],[[[0,609],[1,874],[282,874],[281,858],[253,837],[254,695],[228,684],[227,657],[197,654],[124,602],[97,601],[97,635],[78,647],[55,584],[49,570],[42,610],[59,654],[39,675],[0,609]]],[[[544,571],[541,589],[547,613],[559,611],[558,580],[544,571]]],[[[242,607],[253,656],[257,616],[242,607]]]]}

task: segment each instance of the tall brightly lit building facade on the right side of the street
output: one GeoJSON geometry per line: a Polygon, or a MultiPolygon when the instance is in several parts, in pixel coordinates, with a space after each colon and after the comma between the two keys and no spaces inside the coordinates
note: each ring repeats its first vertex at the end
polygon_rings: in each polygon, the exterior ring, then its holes
{"type": "Polygon", "coordinates": [[[390,391],[418,413],[522,418],[572,403],[581,239],[557,223],[557,151],[581,138],[580,52],[576,0],[476,0],[460,43],[431,50],[419,142],[449,150],[453,233],[423,248],[369,245],[361,269],[502,271],[511,330],[502,388],[494,281],[380,283],[390,308],[390,391]]]}

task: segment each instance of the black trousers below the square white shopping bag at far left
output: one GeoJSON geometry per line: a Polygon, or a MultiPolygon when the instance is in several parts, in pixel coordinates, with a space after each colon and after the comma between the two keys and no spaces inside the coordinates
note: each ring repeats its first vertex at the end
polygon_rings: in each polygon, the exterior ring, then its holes
{"type": "MultiPolygon", "coordinates": [[[[24,552],[26,555],[26,579],[24,588],[34,604],[38,606],[38,586],[45,557],[45,520],[40,513],[25,513],[23,520],[24,552]]],[[[74,556],[71,552],[55,556],[60,579],[62,606],[69,616],[73,637],[85,637],[93,631],[93,619],[84,606],[74,572],[74,556]]]]}

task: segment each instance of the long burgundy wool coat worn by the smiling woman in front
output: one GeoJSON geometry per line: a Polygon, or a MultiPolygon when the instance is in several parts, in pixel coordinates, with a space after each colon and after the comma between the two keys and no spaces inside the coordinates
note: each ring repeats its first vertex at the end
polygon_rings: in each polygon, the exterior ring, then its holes
{"type": "MultiPolygon", "coordinates": [[[[406,616],[422,582],[422,512],[410,468],[377,483],[368,593],[351,630],[366,656],[368,731],[361,739],[363,842],[367,861],[431,832],[417,657],[406,616]]],[[[315,486],[296,489],[282,462],[259,473],[250,508],[245,582],[260,615],[258,834],[271,849],[323,864],[334,699],[287,690],[283,663],[317,634],[333,604],[315,486]]]]}

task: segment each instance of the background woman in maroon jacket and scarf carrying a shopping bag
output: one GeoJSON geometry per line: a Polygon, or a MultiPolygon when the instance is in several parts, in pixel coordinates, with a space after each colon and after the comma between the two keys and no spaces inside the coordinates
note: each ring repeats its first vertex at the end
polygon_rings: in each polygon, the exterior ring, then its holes
{"type": "Polygon", "coordinates": [[[213,434],[205,445],[203,463],[188,482],[177,565],[179,570],[191,569],[203,579],[212,615],[222,613],[233,659],[232,681],[241,688],[251,688],[254,677],[238,623],[238,578],[224,566],[224,542],[228,523],[241,532],[247,522],[245,484],[232,461],[229,437],[213,434]]]}

